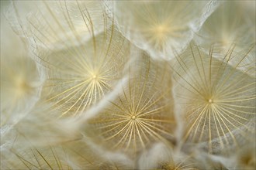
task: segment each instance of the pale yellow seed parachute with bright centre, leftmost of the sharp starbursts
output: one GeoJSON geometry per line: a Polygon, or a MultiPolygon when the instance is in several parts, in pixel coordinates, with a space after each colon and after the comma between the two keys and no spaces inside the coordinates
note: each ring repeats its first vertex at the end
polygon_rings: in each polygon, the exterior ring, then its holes
{"type": "Polygon", "coordinates": [[[36,59],[48,75],[44,96],[53,110],[61,110],[60,117],[75,116],[97,104],[122,79],[130,45],[116,30],[113,19],[93,2],[60,2],[55,4],[57,11],[51,10],[49,3],[43,4],[50,15],[40,12],[29,19],[35,29],[36,59]],[[91,4],[95,11],[101,12],[100,15],[86,8],[91,4]],[[63,17],[59,12],[65,16],[64,20],[57,20],[63,17]],[[48,22],[36,22],[38,26],[32,22],[48,15],[54,23],[57,22],[61,33],[48,22]],[[66,22],[68,26],[65,26],[66,22]],[[43,37],[41,27],[50,29],[43,37]],[[78,35],[81,28],[86,32],[78,35]],[[54,42],[47,39],[51,35],[56,39],[54,42]]]}

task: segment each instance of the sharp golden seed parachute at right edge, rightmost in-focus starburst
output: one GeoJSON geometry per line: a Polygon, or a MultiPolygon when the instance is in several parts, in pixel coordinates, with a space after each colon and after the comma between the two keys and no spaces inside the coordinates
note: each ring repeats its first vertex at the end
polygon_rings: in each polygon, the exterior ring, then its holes
{"type": "MultiPolygon", "coordinates": [[[[214,50],[214,49],[213,49],[214,50]]],[[[213,52],[212,52],[213,53],[213,52]]],[[[240,138],[251,141],[248,125],[255,117],[255,81],[247,71],[229,65],[233,53],[221,62],[207,55],[199,47],[190,46],[177,56],[175,67],[175,97],[181,108],[177,116],[184,116],[185,141],[206,145],[209,152],[220,151],[227,145],[238,147],[240,138]]],[[[249,68],[251,69],[251,68],[249,68]]]]}

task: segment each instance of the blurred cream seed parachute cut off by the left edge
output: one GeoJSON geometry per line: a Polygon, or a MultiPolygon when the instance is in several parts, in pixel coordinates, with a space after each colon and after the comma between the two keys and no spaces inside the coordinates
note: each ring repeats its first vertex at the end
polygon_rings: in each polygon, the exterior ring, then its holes
{"type": "Polygon", "coordinates": [[[43,80],[29,56],[2,57],[1,123],[16,122],[29,113],[39,99],[43,80]],[[17,69],[19,68],[19,69],[17,69]],[[16,114],[13,114],[16,113],[16,114]]]}

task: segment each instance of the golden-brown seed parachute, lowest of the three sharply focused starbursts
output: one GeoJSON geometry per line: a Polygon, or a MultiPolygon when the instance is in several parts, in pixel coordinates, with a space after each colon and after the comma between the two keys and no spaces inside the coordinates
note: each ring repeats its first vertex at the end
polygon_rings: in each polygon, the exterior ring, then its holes
{"type": "Polygon", "coordinates": [[[130,72],[129,83],[123,85],[116,99],[109,101],[109,106],[89,121],[99,134],[92,139],[101,138],[105,141],[104,147],[126,151],[130,156],[137,155],[154,141],[172,139],[175,124],[167,65],[150,63],[148,56],[137,62],[141,62],[140,70],[130,72]],[[159,89],[159,83],[166,89],[159,89]]]}

